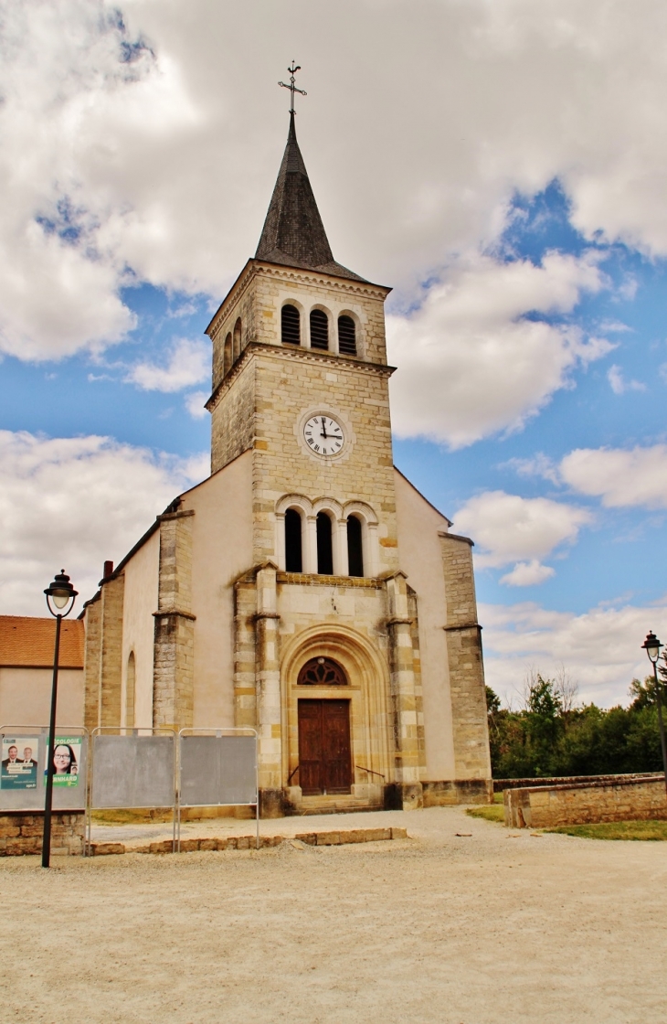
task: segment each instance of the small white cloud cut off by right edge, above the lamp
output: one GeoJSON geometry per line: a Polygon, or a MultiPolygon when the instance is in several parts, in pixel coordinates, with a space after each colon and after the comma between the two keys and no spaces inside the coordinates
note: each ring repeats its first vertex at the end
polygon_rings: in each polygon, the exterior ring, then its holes
{"type": "Polygon", "coordinates": [[[563,459],[560,471],[571,487],[602,498],[608,508],[667,508],[667,444],[576,449],[563,459]]]}

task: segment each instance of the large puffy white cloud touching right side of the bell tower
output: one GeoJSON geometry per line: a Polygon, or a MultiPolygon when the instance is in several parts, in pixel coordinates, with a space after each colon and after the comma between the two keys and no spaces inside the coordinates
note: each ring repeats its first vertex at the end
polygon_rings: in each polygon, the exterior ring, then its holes
{"type": "Polygon", "coordinates": [[[471,444],[518,429],[612,345],[529,313],[571,311],[605,285],[597,256],[550,253],[541,266],[488,256],[459,260],[410,316],[387,323],[392,422],[399,436],[471,444]]]}

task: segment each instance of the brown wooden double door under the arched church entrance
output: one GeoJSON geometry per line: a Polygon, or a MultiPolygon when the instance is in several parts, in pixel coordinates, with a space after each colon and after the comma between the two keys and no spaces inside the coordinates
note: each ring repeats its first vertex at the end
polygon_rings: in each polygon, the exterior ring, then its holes
{"type": "Polygon", "coordinates": [[[299,780],[305,797],[350,793],[349,700],[299,700],[299,780]]]}

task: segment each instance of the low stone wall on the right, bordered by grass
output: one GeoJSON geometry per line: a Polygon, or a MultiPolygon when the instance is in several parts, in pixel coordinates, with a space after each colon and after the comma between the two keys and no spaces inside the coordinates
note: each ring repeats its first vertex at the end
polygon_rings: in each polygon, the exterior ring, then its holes
{"type": "Polygon", "coordinates": [[[594,821],[667,819],[664,775],[504,791],[505,825],[548,828],[594,821]]]}

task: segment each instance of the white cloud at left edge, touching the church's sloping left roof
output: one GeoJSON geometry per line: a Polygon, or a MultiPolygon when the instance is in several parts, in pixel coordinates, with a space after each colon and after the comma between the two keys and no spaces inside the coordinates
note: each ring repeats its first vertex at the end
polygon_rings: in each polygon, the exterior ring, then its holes
{"type": "Polygon", "coordinates": [[[92,597],[105,559],[118,562],[180,492],[208,475],[190,460],[108,437],[0,431],[0,611],[45,614],[44,587],[64,566],[92,597]]]}

